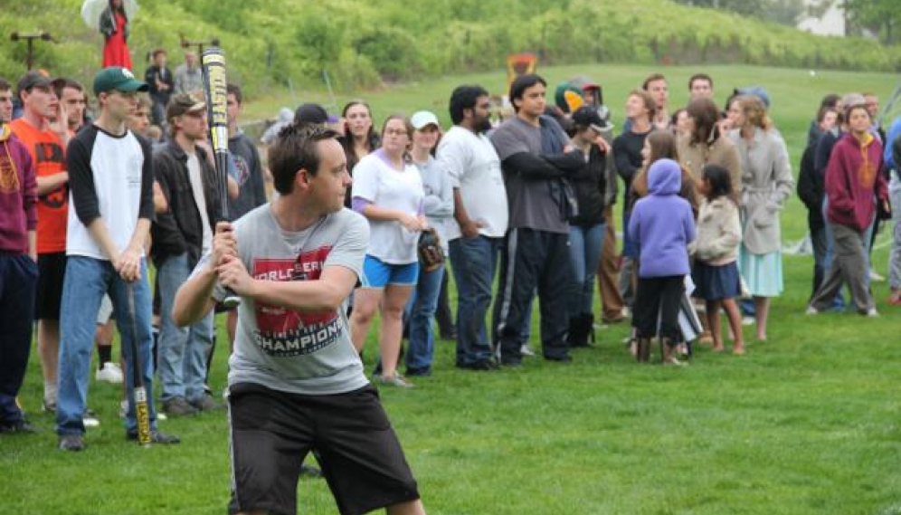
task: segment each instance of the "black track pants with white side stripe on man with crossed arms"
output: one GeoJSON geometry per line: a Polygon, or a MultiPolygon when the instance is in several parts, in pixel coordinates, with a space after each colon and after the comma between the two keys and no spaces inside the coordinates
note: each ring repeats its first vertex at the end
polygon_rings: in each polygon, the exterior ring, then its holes
{"type": "Polygon", "coordinates": [[[541,346],[545,358],[569,352],[567,296],[572,284],[569,234],[534,229],[510,229],[500,250],[500,281],[494,302],[494,343],[504,362],[522,359],[521,336],[532,313],[532,295],[538,291],[541,310],[541,346]]]}

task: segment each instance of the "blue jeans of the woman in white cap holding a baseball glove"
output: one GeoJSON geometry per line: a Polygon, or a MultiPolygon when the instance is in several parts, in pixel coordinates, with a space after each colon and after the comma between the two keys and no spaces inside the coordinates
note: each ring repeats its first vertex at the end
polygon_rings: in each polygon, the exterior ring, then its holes
{"type": "Polygon", "coordinates": [[[406,315],[410,320],[410,347],[407,348],[407,370],[425,371],[432,367],[435,349],[435,310],[438,309],[438,294],[444,279],[444,266],[425,272],[419,269],[419,281],[410,300],[407,301],[406,315]]]}

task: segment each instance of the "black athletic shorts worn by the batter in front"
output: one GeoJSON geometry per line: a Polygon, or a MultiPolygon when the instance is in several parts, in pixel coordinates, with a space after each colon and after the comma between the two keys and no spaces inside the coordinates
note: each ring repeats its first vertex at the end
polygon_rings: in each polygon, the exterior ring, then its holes
{"type": "Polygon", "coordinates": [[[301,396],[243,383],[229,388],[229,513],[297,513],[300,465],[315,453],[342,515],[419,499],[413,472],[374,386],[301,396]]]}

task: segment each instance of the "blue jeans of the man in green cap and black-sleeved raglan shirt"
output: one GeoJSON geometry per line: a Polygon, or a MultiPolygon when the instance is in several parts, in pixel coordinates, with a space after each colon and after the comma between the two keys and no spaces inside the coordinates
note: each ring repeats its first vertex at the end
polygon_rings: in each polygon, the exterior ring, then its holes
{"type": "Polygon", "coordinates": [[[122,341],[122,358],[125,360],[125,384],[128,393],[126,431],[138,431],[135,420],[134,382],[132,357],[138,348],[140,373],[147,388],[147,406],[150,409],[150,428],[156,431],[156,408],[153,402],[153,337],[150,333],[150,287],[147,282],[147,263],[141,260],[141,279],[127,283],[109,261],[84,256],[69,256],[62,285],[62,310],[60,314],[60,372],[56,405],[56,433],[83,434],[81,415],[87,407],[88,380],[90,377],[90,352],[94,348],[94,330],[97,328],[97,311],[100,300],[109,293],[116,312],[116,324],[122,341]],[[134,299],[134,320],[128,297],[134,299]],[[133,332],[134,331],[134,332],[133,332]],[[132,339],[137,333],[138,342],[132,339]]]}

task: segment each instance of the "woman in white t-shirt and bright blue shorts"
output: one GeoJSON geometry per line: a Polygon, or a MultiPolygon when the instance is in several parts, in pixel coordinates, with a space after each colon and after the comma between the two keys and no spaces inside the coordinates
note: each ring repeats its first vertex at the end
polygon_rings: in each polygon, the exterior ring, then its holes
{"type": "Polygon", "coordinates": [[[413,386],[397,372],[403,332],[403,307],[419,276],[416,243],[427,225],[422,214],[422,177],[407,148],[413,125],[403,116],[384,121],[382,148],[360,159],[354,168],[352,205],[369,220],[372,237],[366,249],[362,286],[354,293],[350,330],[361,350],[375,309],[381,306],[379,351],[382,371],[375,382],[413,386]]]}

